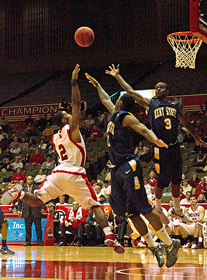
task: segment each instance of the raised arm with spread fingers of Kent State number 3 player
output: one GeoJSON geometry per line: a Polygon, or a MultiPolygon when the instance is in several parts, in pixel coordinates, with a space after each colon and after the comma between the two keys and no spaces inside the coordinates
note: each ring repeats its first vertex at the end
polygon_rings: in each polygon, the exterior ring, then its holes
{"type": "Polygon", "coordinates": [[[142,97],[141,94],[135,92],[135,90],[133,90],[133,88],[128,83],[126,83],[126,81],[124,81],[124,79],[119,74],[119,65],[117,68],[115,68],[114,64],[112,64],[112,67],[109,66],[109,68],[110,71],[106,70],[106,74],[110,74],[112,77],[115,77],[121,88],[123,88],[127,93],[132,94],[132,96],[135,97],[137,103],[148,111],[150,107],[150,98],[142,97]]]}

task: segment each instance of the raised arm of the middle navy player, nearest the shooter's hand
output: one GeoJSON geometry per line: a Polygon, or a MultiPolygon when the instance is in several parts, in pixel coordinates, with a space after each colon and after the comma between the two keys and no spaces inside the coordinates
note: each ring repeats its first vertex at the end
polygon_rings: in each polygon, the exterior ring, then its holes
{"type": "Polygon", "coordinates": [[[106,106],[110,113],[115,112],[114,103],[112,103],[106,91],[103,90],[103,88],[101,88],[100,83],[96,79],[91,77],[88,73],[86,73],[86,78],[89,80],[90,83],[93,84],[93,86],[95,86],[95,88],[97,88],[97,91],[99,92],[99,97],[101,99],[101,103],[103,103],[103,105],[106,106]]]}

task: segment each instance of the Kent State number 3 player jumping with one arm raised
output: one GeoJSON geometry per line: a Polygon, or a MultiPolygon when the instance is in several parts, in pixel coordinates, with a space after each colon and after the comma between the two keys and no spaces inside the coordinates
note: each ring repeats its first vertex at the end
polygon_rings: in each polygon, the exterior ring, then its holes
{"type": "Polygon", "coordinates": [[[193,135],[197,145],[206,146],[206,143],[200,139],[190,121],[182,114],[179,104],[166,99],[169,94],[169,88],[166,83],[157,83],[155,86],[157,100],[144,98],[124,81],[119,74],[119,66],[115,68],[112,64],[112,67],[110,66],[109,68],[110,70],[106,70],[106,74],[115,77],[120,86],[129,94],[132,94],[137,103],[146,109],[152,131],[155,132],[155,135],[159,139],[162,139],[168,145],[168,149],[152,145],[152,154],[155,158],[155,170],[157,171],[158,177],[157,188],[155,190],[155,206],[159,212],[161,221],[163,223],[169,222],[168,218],[161,210],[161,196],[164,188],[167,188],[171,182],[174,208],[170,211],[170,215],[172,217],[180,217],[183,221],[188,223],[192,222],[192,220],[182,212],[179,202],[179,187],[182,174],[181,150],[177,141],[177,126],[179,121],[181,121],[193,135]]]}

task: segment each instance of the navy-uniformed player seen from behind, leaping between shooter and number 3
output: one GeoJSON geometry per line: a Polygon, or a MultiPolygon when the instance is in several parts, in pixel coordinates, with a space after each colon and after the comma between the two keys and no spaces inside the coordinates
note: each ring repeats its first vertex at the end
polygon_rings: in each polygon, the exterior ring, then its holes
{"type": "Polygon", "coordinates": [[[161,243],[155,243],[148,232],[146,223],[141,218],[143,214],[155,230],[155,234],[164,242],[166,250],[166,266],[170,268],[177,261],[177,251],[180,241],[170,239],[156,210],[152,210],[142,176],[139,159],[135,158],[132,151],[132,130],[138,132],[157,146],[167,150],[164,141],[157,139],[155,134],[140,123],[131,113],[135,99],[130,94],[123,94],[114,105],[108,94],[100,84],[86,73],[86,78],[99,92],[99,97],[104,106],[112,113],[107,128],[107,143],[111,169],[111,194],[110,206],[115,214],[126,215],[132,220],[135,228],[148,243],[148,249],[155,254],[159,267],[164,265],[164,248],[161,243]]]}

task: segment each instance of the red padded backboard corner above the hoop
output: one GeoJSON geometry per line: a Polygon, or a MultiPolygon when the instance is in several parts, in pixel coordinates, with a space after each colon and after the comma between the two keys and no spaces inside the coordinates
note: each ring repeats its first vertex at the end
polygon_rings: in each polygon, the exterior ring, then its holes
{"type": "Polygon", "coordinates": [[[190,0],[190,32],[207,43],[206,0],[190,0]]]}

